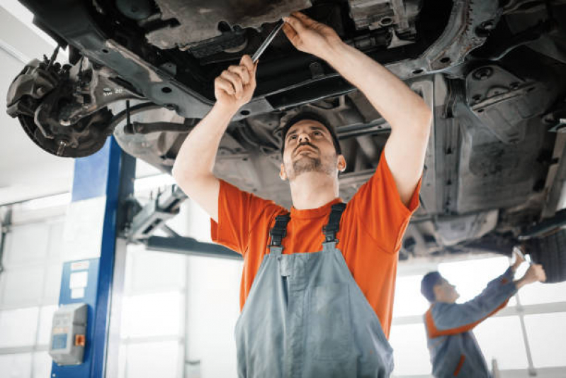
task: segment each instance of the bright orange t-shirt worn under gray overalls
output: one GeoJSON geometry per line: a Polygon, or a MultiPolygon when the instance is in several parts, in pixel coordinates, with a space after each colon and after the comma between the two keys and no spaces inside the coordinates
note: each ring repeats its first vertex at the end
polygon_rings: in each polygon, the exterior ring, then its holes
{"type": "MultiPolygon", "coordinates": [[[[336,234],[336,245],[344,255],[353,279],[377,314],[389,337],[397,274],[397,252],[412,213],[419,205],[419,188],[409,208],[402,203],[385,154],[375,174],[363,184],[346,206],[336,234]]],[[[291,208],[283,253],[322,250],[322,226],[328,223],[337,198],[318,209],[291,208]]],[[[251,284],[264,255],[269,253],[269,230],[275,217],[288,213],[273,201],[261,199],[220,180],[218,223],[211,220],[212,239],[244,256],[240,308],[244,307],[251,284]]]]}

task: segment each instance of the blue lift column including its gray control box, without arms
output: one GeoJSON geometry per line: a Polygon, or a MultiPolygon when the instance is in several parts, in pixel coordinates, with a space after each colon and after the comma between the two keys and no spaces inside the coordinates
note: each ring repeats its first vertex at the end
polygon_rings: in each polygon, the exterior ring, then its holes
{"type": "MultiPolygon", "coordinates": [[[[54,316],[50,354],[61,362],[64,358],[59,354],[79,347],[84,357],[73,365],[53,362],[51,378],[106,376],[113,274],[118,277],[124,273],[114,270],[115,256],[124,255],[126,246],[124,239],[118,239],[118,230],[125,221],[125,199],[133,192],[134,178],[135,158],[125,154],[113,137],[94,155],[75,160],[72,203],[67,210],[62,245],[59,304],[66,311],[54,316]],[[74,305],[64,306],[69,304],[74,305]],[[79,334],[81,316],[77,316],[78,326],[75,323],[69,330],[65,325],[75,308],[84,311],[81,304],[86,304],[84,335],[79,334]]],[[[69,353],[64,357],[67,361],[76,358],[69,357],[69,353]]]]}

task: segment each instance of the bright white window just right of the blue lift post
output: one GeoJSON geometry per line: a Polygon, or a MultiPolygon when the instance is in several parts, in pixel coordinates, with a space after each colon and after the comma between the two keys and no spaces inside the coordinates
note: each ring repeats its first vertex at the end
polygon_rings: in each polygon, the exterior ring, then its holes
{"type": "Polygon", "coordinates": [[[186,262],[128,245],[118,378],[183,377],[186,262]]]}

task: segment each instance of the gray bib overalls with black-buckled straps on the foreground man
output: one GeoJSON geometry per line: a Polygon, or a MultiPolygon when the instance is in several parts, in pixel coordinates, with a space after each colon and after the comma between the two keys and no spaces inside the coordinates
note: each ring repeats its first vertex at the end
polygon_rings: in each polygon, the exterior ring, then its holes
{"type": "Polygon", "coordinates": [[[320,252],[283,255],[290,216],[276,217],[236,323],[239,377],[389,377],[392,348],[336,248],[345,208],[332,206],[320,252]]]}

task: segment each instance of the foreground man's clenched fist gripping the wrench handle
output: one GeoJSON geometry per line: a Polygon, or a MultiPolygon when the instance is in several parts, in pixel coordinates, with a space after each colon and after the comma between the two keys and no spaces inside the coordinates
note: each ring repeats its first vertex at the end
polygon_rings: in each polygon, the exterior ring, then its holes
{"type": "Polygon", "coordinates": [[[217,104],[237,111],[247,104],[256,89],[257,63],[251,61],[249,55],[244,55],[239,65],[232,65],[222,71],[214,81],[214,96],[217,104]]]}

